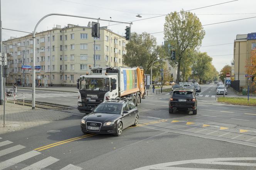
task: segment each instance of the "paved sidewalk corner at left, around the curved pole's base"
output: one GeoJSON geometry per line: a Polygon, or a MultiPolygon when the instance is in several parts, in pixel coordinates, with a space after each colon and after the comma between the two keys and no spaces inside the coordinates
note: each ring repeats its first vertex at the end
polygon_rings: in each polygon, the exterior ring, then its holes
{"type": "Polygon", "coordinates": [[[3,105],[0,105],[0,134],[50,123],[71,114],[42,108],[32,110],[29,106],[5,103],[5,127],[3,127],[3,105]]]}

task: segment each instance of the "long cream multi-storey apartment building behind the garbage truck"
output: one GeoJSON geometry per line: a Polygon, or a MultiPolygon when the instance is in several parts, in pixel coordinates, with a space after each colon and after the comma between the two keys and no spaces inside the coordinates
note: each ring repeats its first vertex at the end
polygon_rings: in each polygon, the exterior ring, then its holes
{"type": "MultiPolygon", "coordinates": [[[[123,66],[126,40],[107,27],[100,28],[100,38],[91,37],[91,27],[72,24],[64,28],[56,25],[35,37],[35,65],[40,68],[35,70],[36,85],[75,86],[76,79],[94,67],[94,57],[96,67],[123,66]]],[[[32,85],[32,70],[22,69],[22,65],[32,66],[32,47],[32,34],[3,42],[9,66],[7,83],[32,85]]]]}

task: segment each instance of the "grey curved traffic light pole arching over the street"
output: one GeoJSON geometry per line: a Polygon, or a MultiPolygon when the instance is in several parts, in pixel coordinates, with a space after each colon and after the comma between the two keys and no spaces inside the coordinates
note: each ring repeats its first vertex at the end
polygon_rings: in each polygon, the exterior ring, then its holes
{"type": "MultiPolygon", "coordinates": [[[[63,13],[50,13],[48,15],[45,15],[44,17],[42,17],[39,22],[37,22],[37,24],[35,25],[34,28],[34,32],[33,32],[33,66],[32,66],[32,71],[33,71],[33,75],[32,75],[32,109],[35,109],[35,32],[37,30],[37,27],[39,25],[40,22],[42,22],[42,20],[44,20],[44,18],[47,18],[49,16],[52,15],[58,15],[58,16],[66,16],[66,17],[76,17],[76,18],[86,18],[86,19],[91,19],[91,20],[101,20],[101,21],[108,21],[108,22],[118,22],[118,23],[126,23],[126,24],[132,24],[130,22],[119,22],[119,21],[113,21],[113,20],[104,20],[104,19],[99,19],[99,18],[91,18],[91,17],[83,17],[83,16],[78,16],[78,15],[67,15],[67,14],[63,14],[63,13]]],[[[0,22],[1,22],[1,14],[0,14],[0,22]]],[[[2,30],[2,22],[0,23],[0,34],[1,34],[1,30],[2,30]]],[[[2,34],[0,35],[0,43],[2,38],[2,34]]],[[[2,44],[0,44],[2,48],[2,44]]],[[[96,56],[95,56],[96,57],[96,56]]]]}

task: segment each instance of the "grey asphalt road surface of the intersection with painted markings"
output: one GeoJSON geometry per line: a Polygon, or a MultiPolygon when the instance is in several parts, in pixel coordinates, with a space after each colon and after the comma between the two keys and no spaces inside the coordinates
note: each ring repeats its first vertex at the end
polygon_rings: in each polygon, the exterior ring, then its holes
{"type": "Polygon", "coordinates": [[[0,169],[255,169],[256,108],[219,104],[216,97],[216,85],[202,85],[192,115],[169,114],[168,94],[149,96],[138,107],[138,127],[120,137],[84,135],[83,114],[68,110],[72,116],[63,120],[2,134],[0,169]]]}

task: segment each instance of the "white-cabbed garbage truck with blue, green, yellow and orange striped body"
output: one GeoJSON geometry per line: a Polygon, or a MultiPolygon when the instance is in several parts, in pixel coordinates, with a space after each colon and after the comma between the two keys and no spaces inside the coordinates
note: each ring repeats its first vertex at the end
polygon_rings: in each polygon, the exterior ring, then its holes
{"type": "Polygon", "coordinates": [[[145,98],[144,70],[139,67],[91,68],[77,79],[80,112],[90,112],[110,99],[131,100],[136,106],[145,98]]]}

